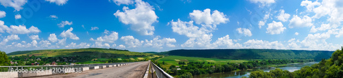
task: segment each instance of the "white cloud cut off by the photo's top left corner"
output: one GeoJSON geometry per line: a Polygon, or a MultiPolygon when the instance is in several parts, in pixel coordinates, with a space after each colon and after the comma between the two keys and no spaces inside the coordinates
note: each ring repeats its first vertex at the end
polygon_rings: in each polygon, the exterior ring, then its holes
{"type": "Polygon", "coordinates": [[[16,11],[22,10],[22,6],[27,3],[27,0],[0,0],[1,5],[4,7],[12,7],[16,11]]]}

